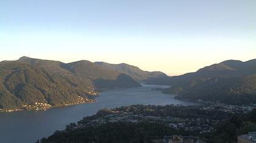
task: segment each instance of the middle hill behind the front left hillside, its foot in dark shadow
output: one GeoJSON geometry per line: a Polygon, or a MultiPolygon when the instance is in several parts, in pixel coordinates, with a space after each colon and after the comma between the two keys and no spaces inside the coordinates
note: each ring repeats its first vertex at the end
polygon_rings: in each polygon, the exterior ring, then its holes
{"type": "Polygon", "coordinates": [[[62,65],[63,68],[71,71],[76,76],[87,77],[93,81],[97,88],[124,88],[140,87],[138,82],[130,76],[120,73],[119,71],[100,67],[93,62],[78,61],[62,65]]]}

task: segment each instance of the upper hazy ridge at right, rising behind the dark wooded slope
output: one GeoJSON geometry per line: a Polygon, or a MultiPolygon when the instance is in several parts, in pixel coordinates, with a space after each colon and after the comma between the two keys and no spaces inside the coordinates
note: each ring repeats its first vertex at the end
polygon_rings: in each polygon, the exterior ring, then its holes
{"type": "Polygon", "coordinates": [[[168,82],[170,85],[189,88],[208,78],[241,77],[254,74],[256,74],[256,59],[246,62],[229,60],[201,68],[194,73],[172,76],[166,79],[165,82],[168,82]]]}

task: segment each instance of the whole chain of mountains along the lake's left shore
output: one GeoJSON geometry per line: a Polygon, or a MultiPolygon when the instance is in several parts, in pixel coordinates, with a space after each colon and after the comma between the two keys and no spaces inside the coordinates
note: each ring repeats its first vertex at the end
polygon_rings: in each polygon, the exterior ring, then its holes
{"type": "Polygon", "coordinates": [[[53,106],[93,99],[94,88],[140,87],[138,82],[168,78],[127,64],[77,61],[65,64],[21,57],[0,62],[0,110],[18,109],[35,102],[53,106]]]}

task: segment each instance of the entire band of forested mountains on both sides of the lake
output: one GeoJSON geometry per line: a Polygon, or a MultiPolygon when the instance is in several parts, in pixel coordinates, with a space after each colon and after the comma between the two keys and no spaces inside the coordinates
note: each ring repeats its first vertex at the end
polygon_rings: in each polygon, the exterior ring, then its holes
{"type": "Polygon", "coordinates": [[[97,88],[140,87],[139,82],[171,85],[163,93],[177,94],[177,99],[256,103],[256,59],[224,61],[194,73],[169,77],[124,63],[65,64],[21,57],[0,62],[0,79],[0,110],[19,109],[35,102],[52,106],[76,104],[81,98],[94,99],[97,88]]]}

